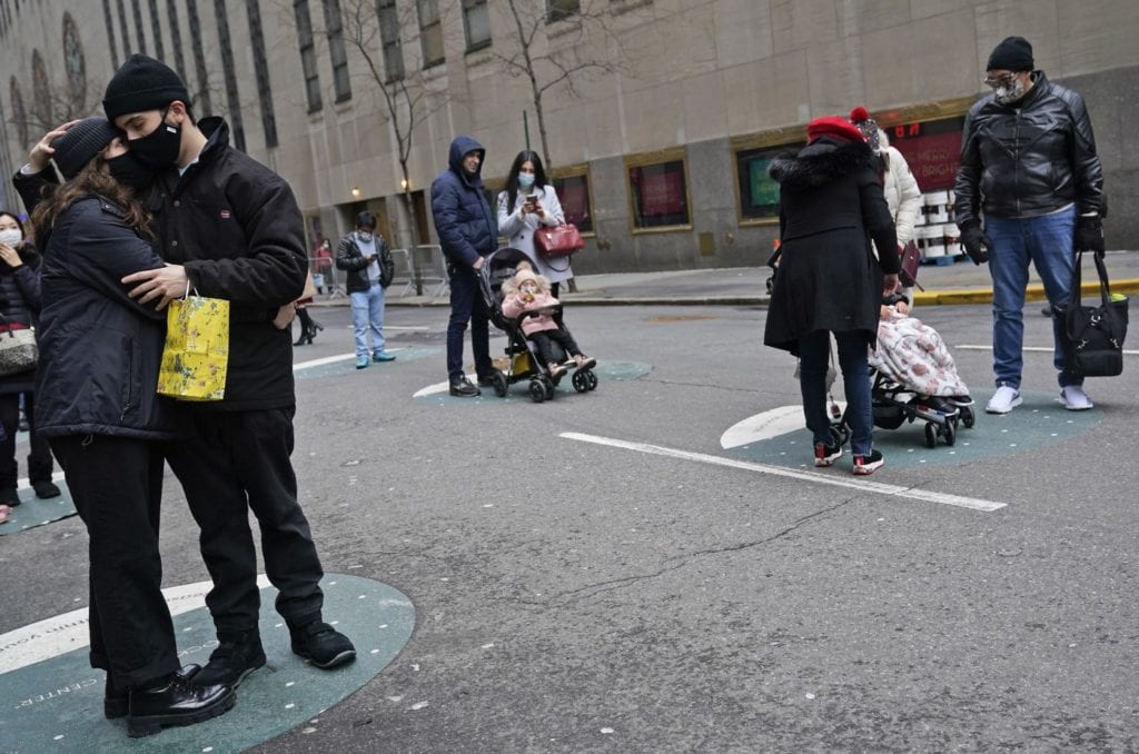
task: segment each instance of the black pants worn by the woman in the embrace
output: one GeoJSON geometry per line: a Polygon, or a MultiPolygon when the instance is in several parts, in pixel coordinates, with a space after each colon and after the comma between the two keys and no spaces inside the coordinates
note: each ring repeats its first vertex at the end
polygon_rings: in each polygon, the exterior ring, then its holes
{"type": "Polygon", "coordinates": [[[163,445],[103,435],[50,442],[90,539],[91,666],[118,687],[174,672],[158,556],[163,445]]]}

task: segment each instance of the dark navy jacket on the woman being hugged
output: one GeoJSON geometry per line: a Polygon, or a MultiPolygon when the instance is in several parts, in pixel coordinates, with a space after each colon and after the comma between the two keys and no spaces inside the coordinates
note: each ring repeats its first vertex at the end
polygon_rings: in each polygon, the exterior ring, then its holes
{"type": "Polygon", "coordinates": [[[155,392],[166,312],[139,304],[120,282],[131,272],[162,267],[150,244],[126,226],[117,205],[96,196],[76,200],[39,243],[39,433],[185,435],[180,407],[155,392]]]}

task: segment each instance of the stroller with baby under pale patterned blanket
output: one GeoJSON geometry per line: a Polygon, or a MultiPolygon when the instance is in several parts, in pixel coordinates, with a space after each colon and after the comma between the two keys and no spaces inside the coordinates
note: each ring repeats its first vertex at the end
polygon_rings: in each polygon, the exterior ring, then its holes
{"type": "Polygon", "coordinates": [[[900,294],[882,302],[870,367],[876,426],[896,429],[906,421],[923,420],[929,448],[937,437],[952,445],[958,421],[973,426],[973,399],[945,342],[937,330],[909,315],[909,302],[900,294]]]}

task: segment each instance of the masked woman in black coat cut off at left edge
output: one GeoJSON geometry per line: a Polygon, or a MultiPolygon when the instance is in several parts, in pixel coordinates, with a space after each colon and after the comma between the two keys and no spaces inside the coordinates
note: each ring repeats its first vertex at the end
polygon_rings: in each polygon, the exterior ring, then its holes
{"type": "MultiPolygon", "coordinates": [[[[0,329],[35,326],[40,314],[40,255],[24,241],[24,223],[0,210],[0,329]]],[[[16,482],[16,432],[19,428],[19,396],[24,394],[28,424],[27,477],[38,498],[56,498],[51,482],[51,449],[35,426],[32,390],[35,369],[0,376],[0,506],[18,506],[16,482]]]]}

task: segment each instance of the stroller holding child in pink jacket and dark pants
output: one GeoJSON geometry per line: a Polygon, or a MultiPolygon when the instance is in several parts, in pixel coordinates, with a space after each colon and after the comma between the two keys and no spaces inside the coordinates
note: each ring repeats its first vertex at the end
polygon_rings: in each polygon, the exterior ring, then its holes
{"type": "Polygon", "coordinates": [[[501,248],[486,257],[481,273],[491,321],[509,336],[509,369],[495,372],[495,394],[506,396],[508,385],[528,379],[531,399],[541,403],[554,398],[570,368],[579,393],[597,387],[597,361],[582,353],[562,319],[560,302],[550,295],[549,280],[534,272],[524,252],[501,248]]]}

